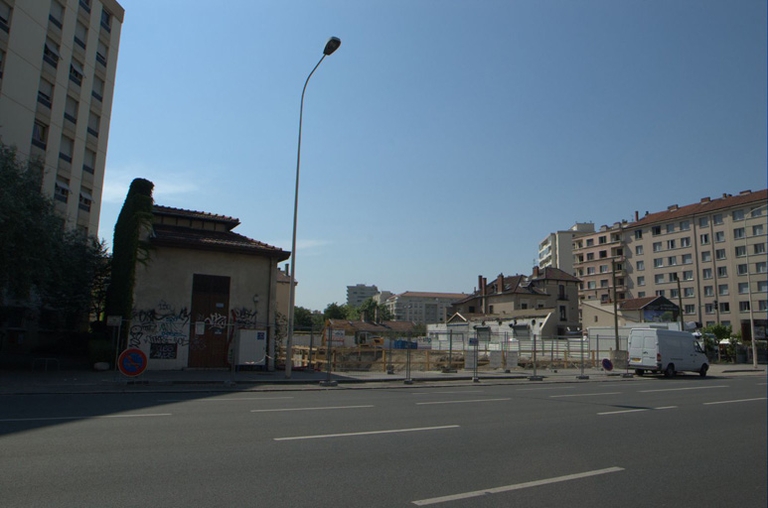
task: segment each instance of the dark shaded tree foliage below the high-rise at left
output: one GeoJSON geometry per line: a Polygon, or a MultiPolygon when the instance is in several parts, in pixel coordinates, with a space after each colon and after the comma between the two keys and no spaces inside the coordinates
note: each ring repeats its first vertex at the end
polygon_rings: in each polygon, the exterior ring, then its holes
{"type": "Polygon", "coordinates": [[[76,329],[87,322],[108,257],[97,238],[64,229],[40,192],[42,174],[0,144],[0,299],[55,310],[60,326],[76,329]]]}

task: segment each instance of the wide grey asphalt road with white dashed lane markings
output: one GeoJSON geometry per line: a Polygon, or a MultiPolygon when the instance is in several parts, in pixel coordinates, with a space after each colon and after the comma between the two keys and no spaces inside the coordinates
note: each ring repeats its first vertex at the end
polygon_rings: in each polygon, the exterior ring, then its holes
{"type": "Polygon", "coordinates": [[[0,397],[11,507],[764,508],[766,380],[0,397]]]}

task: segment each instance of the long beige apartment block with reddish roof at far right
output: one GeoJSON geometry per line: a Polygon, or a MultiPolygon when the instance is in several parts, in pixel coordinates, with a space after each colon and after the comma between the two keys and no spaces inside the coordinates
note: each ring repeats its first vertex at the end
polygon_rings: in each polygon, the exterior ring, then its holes
{"type": "Polygon", "coordinates": [[[765,319],[767,199],[768,190],[704,198],[578,238],[580,300],[664,296],[686,321],[736,331],[750,311],[765,319]]]}

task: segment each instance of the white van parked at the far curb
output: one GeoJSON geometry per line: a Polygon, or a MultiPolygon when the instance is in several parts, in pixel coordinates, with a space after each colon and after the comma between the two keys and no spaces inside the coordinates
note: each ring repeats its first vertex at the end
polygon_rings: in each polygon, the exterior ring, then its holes
{"type": "Polygon", "coordinates": [[[701,344],[688,332],[659,328],[633,328],[629,332],[629,368],[638,376],[645,371],[663,372],[673,377],[676,372],[698,372],[707,375],[709,360],[701,344]]]}

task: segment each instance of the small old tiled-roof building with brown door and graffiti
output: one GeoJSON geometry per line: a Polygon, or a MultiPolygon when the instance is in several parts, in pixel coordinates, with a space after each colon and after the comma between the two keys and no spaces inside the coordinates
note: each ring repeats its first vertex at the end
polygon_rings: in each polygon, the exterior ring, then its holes
{"type": "Polygon", "coordinates": [[[290,253],[233,232],[239,224],[154,207],[129,324],[129,346],[145,352],[148,368],[274,368],[278,263],[290,253]]]}

